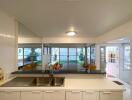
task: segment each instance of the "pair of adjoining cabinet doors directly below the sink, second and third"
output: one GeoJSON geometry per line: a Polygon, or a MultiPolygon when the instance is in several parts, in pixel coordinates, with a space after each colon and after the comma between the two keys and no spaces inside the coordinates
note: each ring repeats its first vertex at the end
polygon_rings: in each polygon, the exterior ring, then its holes
{"type": "Polygon", "coordinates": [[[24,91],[21,100],[65,100],[65,91],[24,91]]]}

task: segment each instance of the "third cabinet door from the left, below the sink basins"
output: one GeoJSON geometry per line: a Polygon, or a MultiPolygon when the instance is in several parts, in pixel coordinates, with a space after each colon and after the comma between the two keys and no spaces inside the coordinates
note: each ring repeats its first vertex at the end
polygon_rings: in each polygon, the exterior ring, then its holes
{"type": "Polygon", "coordinates": [[[43,92],[44,100],[65,100],[65,91],[49,90],[43,92]]]}

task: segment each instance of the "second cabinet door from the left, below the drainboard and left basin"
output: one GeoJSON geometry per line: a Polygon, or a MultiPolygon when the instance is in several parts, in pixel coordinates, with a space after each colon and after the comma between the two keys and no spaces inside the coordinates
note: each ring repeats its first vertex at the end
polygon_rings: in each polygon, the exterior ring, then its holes
{"type": "Polygon", "coordinates": [[[41,91],[21,92],[21,100],[43,100],[41,91]]]}

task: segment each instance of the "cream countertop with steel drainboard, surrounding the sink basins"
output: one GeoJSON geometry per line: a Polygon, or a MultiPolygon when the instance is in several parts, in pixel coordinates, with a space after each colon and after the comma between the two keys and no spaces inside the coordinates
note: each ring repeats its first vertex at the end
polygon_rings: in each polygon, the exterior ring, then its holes
{"type": "Polygon", "coordinates": [[[65,78],[65,83],[63,87],[32,87],[28,84],[33,78],[16,78],[11,83],[9,81],[7,84],[0,87],[2,90],[96,90],[96,91],[124,91],[123,85],[118,85],[107,78],[65,78]],[[10,86],[8,86],[10,84],[10,86]]]}

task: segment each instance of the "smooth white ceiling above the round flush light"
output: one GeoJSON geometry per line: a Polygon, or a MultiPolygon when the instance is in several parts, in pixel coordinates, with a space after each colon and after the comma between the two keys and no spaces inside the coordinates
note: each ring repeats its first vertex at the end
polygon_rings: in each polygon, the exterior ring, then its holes
{"type": "Polygon", "coordinates": [[[0,7],[39,36],[94,37],[132,19],[132,0],[0,0],[0,7]]]}

